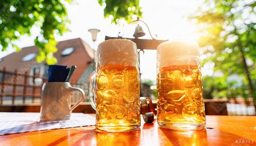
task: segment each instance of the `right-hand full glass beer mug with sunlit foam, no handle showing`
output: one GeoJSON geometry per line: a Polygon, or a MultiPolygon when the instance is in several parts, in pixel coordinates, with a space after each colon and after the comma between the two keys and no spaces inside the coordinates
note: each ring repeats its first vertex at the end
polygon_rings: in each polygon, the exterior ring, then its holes
{"type": "Polygon", "coordinates": [[[157,47],[157,93],[157,120],[160,127],[205,127],[197,42],[168,41],[157,47]]]}

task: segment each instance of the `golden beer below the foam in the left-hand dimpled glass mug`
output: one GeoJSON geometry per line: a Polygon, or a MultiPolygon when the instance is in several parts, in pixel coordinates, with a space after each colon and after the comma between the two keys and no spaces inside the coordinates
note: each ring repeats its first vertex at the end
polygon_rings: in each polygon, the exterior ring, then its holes
{"type": "Polygon", "coordinates": [[[96,76],[96,128],[130,130],[139,126],[139,78],[134,66],[103,66],[96,76]]]}

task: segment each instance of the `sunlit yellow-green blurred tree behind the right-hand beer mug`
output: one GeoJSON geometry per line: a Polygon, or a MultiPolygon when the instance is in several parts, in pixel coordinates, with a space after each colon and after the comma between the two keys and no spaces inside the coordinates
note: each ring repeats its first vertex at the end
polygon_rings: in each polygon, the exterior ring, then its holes
{"type": "Polygon", "coordinates": [[[203,54],[209,55],[203,64],[213,62],[227,78],[239,74],[245,78],[256,103],[253,80],[256,80],[256,1],[205,0],[191,17],[197,20],[203,54]]]}

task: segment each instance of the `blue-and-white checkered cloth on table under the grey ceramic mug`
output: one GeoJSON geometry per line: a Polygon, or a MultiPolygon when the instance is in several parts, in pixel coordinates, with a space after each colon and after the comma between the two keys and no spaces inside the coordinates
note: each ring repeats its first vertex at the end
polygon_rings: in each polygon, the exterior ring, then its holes
{"type": "Polygon", "coordinates": [[[95,125],[95,118],[72,113],[70,120],[40,122],[40,113],[0,112],[0,135],[95,125]]]}

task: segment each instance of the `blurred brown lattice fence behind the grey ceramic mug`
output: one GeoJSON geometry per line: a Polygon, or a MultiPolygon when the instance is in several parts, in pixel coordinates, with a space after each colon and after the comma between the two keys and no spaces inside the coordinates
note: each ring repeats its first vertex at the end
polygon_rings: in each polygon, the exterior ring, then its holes
{"type": "MultiPolygon", "coordinates": [[[[47,82],[46,77],[29,75],[28,72],[18,73],[18,70],[11,72],[5,67],[0,70],[0,75],[0,106],[40,103],[42,86],[47,82]],[[29,82],[31,79],[32,83],[29,82]],[[35,80],[40,82],[35,82],[35,80]]],[[[83,89],[87,95],[87,83],[73,81],[70,83],[74,87],[83,89]]],[[[79,96],[79,92],[73,92],[71,101],[76,102],[79,96]]],[[[88,102],[88,99],[84,102],[88,102]]]]}

